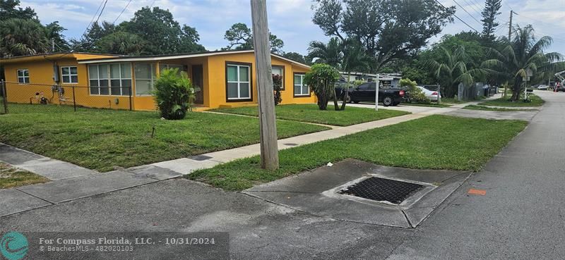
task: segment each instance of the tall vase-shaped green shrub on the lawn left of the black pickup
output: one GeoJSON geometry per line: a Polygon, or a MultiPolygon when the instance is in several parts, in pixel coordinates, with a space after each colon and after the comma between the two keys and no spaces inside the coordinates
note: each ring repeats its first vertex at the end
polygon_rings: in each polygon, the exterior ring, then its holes
{"type": "Polygon", "coordinates": [[[339,78],[340,73],[338,70],[324,63],[314,64],[310,72],[304,76],[304,83],[318,97],[318,107],[320,110],[326,110],[328,107],[328,101],[333,97],[333,85],[339,78]]]}

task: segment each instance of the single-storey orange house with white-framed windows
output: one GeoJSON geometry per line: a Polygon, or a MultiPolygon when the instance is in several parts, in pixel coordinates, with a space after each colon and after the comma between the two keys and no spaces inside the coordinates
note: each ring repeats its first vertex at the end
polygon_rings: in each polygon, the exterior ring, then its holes
{"type": "MultiPolygon", "coordinates": [[[[196,88],[198,109],[252,106],[257,103],[256,66],[253,50],[208,51],[162,56],[114,56],[110,54],[60,53],[3,58],[8,101],[30,103],[43,92],[58,104],[57,87],[65,97],[73,87],[78,106],[155,110],[150,92],[163,68],[179,68],[196,88]],[[56,73],[54,73],[56,71],[56,73]],[[49,93],[45,93],[46,89],[49,93]],[[131,89],[131,94],[129,92],[131,89]]],[[[302,80],[310,67],[271,55],[272,73],[283,76],[282,104],[315,103],[302,80]]]]}

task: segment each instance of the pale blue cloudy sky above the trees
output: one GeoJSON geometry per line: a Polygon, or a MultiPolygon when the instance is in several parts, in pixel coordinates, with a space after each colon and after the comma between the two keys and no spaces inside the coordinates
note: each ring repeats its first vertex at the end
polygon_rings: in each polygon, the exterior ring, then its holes
{"type": "MultiPolygon", "coordinates": [[[[104,0],[21,0],[22,6],[31,6],[37,12],[42,23],[59,20],[66,27],[66,36],[80,37],[104,0]]],[[[456,6],[456,15],[470,27],[481,30],[480,11],[484,0],[439,0],[444,6],[456,6]],[[461,8],[460,6],[463,6],[461,8]],[[476,19],[476,20],[475,20],[476,19]],[[477,21],[478,20],[478,21],[477,21]]],[[[225,30],[234,23],[251,24],[251,11],[248,0],[108,0],[100,20],[120,23],[129,20],[133,13],[143,6],[168,8],[179,23],[196,27],[201,37],[201,44],[207,49],[220,49],[227,45],[223,39],[225,30]],[[124,10],[124,13],[121,11],[124,10]]],[[[311,0],[268,0],[268,20],[270,31],[285,42],[283,51],[297,51],[306,54],[311,40],[325,41],[321,29],[311,22],[311,0]]],[[[549,35],[554,44],[549,51],[565,54],[565,0],[503,0],[497,35],[508,35],[510,10],[514,15],[513,24],[532,24],[537,37],[549,35]]],[[[472,30],[467,25],[455,20],[444,28],[445,33],[453,34],[461,30],[472,30]]],[[[433,43],[439,39],[430,39],[433,43]]]]}

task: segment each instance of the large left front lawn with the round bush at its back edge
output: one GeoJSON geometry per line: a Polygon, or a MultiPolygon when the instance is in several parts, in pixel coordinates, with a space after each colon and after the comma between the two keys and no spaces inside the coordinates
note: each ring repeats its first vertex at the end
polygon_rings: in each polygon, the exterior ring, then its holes
{"type": "MultiPolygon", "coordinates": [[[[191,112],[160,120],[157,112],[10,104],[0,142],[97,171],[179,159],[259,142],[258,118],[191,112]],[[151,138],[155,126],[155,137],[151,138]]],[[[278,121],[278,137],[329,128],[278,121]]]]}

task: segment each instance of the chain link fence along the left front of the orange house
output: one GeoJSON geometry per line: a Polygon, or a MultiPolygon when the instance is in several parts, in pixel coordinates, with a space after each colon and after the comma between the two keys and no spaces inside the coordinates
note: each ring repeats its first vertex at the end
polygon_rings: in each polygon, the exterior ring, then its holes
{"type": "Polygon", "coordinates": [[[1,82],[0,113],[9,113],[16,104],[65,106],[77,108],[132,110],[131,86],[86,87],[78,85],[46,85],[1,82]]]}

